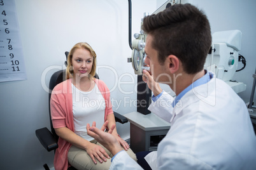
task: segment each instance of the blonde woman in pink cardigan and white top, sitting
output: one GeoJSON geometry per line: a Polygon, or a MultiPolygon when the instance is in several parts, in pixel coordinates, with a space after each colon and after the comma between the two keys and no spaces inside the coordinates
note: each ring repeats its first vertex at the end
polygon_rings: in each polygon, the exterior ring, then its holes
{"type": "MultiPolygon", "coordinates": [[[[55,170],[109,169],[113,155],[87,134],[87,123],[96,121],[98,128],[108,121],[108,128],[115,124],[106,84],[95,79],[96,53],[86,42],[75,44],[68,55],[66,81],[52,91],[50,108],[55,132],[60,137],[55,152],[55,170]]],[[[113,134],[127,153],[136,160],[129,145],[113,134]]]]}

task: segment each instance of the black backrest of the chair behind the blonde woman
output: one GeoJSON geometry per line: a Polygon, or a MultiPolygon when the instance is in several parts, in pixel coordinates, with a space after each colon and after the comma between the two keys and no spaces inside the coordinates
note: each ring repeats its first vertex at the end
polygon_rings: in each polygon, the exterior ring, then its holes
{"type": "MultiPolygon", "coordinates": [[[[65,52],[66,58],[68,58],[68,51],[65,52]]],[[[65,62],[66,64],[66,62],[65,62]]],[[[99,79],[99,76],[97,74],[94,75],[94,77],[96,79],[99,79]]],[[[55,137],[55,139],[58,141],[59,136],[55,133],[55,130],[53,128],[52,125],[52,115],[51,115],[51,108],[50,108],[50,99],[51,99],[51,95],[52,95],[52,90],[53,88],[59,84],[60,82],[63,82],[66,80],[66,69],[64,70],[59,70],[55,73],[52,74],[52,77],[50,78],[50,82],[49,82],[49,115],[50,115],[50,126],[51,126],[51,131],[53,136],[55,137]]]]}

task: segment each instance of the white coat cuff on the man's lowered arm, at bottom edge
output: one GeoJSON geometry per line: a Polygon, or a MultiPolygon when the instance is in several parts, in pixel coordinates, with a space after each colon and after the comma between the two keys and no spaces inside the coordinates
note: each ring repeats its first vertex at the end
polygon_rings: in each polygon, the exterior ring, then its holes
{"type": "Polygon", "coordinates": [[[126,152],[118,152],[111,162],[110,169],[112,170],[143,170],[137,162],[135,162],[126,152]]]}

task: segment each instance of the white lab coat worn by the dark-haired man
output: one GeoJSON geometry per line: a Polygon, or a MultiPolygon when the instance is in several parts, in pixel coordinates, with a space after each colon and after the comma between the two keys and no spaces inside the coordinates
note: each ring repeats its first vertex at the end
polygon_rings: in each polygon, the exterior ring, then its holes
{"type": "MultiPolygon", "coordinates": [[[[250,115],[224,81],[213,78],[188,91],[173,108],[170,122],[153,169],[256,169],[250,115]]],[[[110,169],[142,168],[120,152],[110,169]]]]}

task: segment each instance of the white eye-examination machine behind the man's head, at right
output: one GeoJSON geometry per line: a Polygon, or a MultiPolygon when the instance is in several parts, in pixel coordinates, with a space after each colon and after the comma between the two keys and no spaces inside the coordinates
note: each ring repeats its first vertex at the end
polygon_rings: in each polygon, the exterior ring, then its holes
{"type": "Polygon", "coordinates": [[[211,50],[204,63],[204,69],[214,72],[218,79],[229,84],[236,93],[246,89],[246,84],[243,82],[231,80],[238,69],[241,36],[240,30],[213,33],[211,50]]]}

